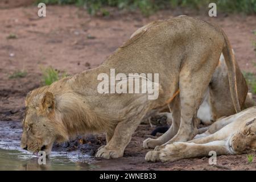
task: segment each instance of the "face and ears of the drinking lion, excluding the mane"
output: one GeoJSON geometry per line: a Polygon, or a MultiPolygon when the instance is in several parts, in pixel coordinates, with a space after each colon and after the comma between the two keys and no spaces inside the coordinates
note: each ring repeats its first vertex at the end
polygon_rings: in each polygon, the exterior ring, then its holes
{"type": "Polygon", "coordinates": [[[51,92],[28,93],[23,119],[21,147],[38,155],[39,151],[51,152],[56,135],[55,98],[51,92]]]}

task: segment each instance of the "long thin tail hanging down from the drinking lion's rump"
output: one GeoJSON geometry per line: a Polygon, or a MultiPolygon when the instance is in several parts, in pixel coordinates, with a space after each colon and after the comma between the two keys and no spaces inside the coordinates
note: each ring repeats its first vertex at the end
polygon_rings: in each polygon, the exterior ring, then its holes
{"type": "Polygon", "coordinates": [[[225,39],[225,46],[222,49],[222,53],[225,57],[226,67],[228,68],[228,78],[229,78],[229,88],[230,88],[231,98],[233,101],[234,109],[236,110],[237,113],[239,113],[241,111],[241,106],[240,106],[238,93],[237,93],[237,79],[236,79],[236,67],[235,67],[236,57],[234,56],[228,37],[226,36],[223,30],[221,30],[221,32],[225,39]]]}

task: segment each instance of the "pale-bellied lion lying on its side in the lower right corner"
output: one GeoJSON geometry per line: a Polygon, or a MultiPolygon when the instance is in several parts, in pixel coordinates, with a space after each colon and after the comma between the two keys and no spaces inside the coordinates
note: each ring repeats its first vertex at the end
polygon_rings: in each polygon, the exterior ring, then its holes
{"type": "Polygon", "coordinates": [[[203,134],[189,142],[167,144],[162,150],[149,151],[147,161],[174,162],[175,160],[217,155],[242,154],[256,150],[256,107],[221,118],[203,134]]]}

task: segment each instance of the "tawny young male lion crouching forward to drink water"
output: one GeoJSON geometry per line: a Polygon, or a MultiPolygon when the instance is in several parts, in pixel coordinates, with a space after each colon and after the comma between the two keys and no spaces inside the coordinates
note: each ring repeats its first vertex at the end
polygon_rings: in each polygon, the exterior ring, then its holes
{"type": "Polygon", "coordinates": [[[168,140],[169,143],[191,140],[197,134],[196,111],[221,52],[228,68],[232,101],[238,112],[235,57],[228,38],[217,26],[178,16],[156,22],[135,35],[99,67],[29,93],[21,147],[34,154],[40,150],[49,154],[55,140],[61,142],[86,132],[105,132],[107,144],[96,156],[119,158],[139,123],[148,117],[146,113],[169,103],[172,110],[176,110],[172,129],[158,144],[168,140]],[[148,100],[148,94],[99,93],[98,75],[107,74],[110,69],[125,75],[159,73],[159,84],[156,83],[159,97],[148,100]]]}

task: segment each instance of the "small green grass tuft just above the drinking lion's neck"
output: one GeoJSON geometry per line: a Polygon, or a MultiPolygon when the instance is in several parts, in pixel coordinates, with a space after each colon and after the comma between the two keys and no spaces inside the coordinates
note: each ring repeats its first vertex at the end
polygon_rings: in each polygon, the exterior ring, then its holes
{"type": "Polygon", "coordinates": [[[44,85],[51,85],[53,82],[59,80],[60,78],[64,78],[67,75],[67,73],[60,73],[57,69],[54,69],[52,67],[42,68],[43,73],[43,84],[44,85]]]}

